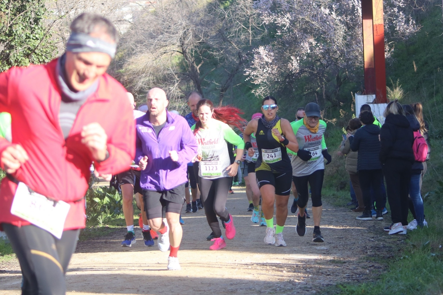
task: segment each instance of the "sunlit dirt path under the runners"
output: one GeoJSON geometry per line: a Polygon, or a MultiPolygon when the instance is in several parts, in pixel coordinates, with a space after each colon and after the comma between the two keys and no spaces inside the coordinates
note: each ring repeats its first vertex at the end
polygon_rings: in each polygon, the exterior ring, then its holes
{"type": "MultiPolygon", "coordinates": [[[[284,236],[287,247],[263,242],[265,227],[254,225],[244,188],[234,189],[226,207],[234,217],[237,236],[227,247],[210,251],[210,229],[203,210],[182,214],[184,237],[180,271],[166,271],[168,252],[144,247],[141,231],[131,248],[120,247],[125,230],[79,242],[66,274],[67,294],[321,294],[339,282],[363,282],[382,271],[371,257],[392,255],[401,236],[387,236],[385,221],[358,221],[356,213],[323,202],[324,243],[312,242],[313,219],[306,236],[297,236],[297,219],[290,213],[284,236]],[[368,230],[369,228],[369,230],[368,230]]],[[[292,200],[289,202],[292,204],[292,200]]],[[[309,203],[308,208],[311,208],[309,203]]],[[[310,209],[308,212],[312,212],[310,209]]],[[[223,232],[224,234],[224,232],[223,232]]],[[[20,294],[17,261],[0,265],[0,294],[20,294]]]]}

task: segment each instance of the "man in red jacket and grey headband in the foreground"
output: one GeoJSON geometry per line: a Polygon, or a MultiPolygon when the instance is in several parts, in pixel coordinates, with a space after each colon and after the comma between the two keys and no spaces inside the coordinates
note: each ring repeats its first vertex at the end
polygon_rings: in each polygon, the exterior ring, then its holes
{"type": "Polygon", "coordinates": [[[12,118],[12,142],[0,139],[7,173],[0,230],[20,262],[22,294],[65,294],[64,274],[85,227],[91,163],[109,180],[135,155],[126,90],[106,74],[116,29],[88,13],[70,29],[59,59],[0,74],[0,112],[12,118]]]}

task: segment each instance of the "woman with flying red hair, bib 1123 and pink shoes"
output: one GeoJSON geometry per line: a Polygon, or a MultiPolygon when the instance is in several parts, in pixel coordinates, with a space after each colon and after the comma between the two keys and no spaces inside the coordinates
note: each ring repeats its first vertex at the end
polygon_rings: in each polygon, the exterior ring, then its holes
{"type": "Polygon", "coordinates": [[[226,247],[226,242],[221,236],[217,215],[224,221],[226,238],[235,237],[234,222],[226,209],[226,200],[245,146],[242,138],[229,125],[243,129],[246,121],[238,115],[242,114],[239,109],[229,106],[214,108],[209,99],[202,99],[197,103],[197,112],[199,120],[191,129],[198,144],[201,199],[206,220],[214,234],[214,238],[211,239],[214,244],[209,249],[220,250],[226,247]],[[233,164],[229,158],[227,143],[237,146],[237,156],[233,164]]]}

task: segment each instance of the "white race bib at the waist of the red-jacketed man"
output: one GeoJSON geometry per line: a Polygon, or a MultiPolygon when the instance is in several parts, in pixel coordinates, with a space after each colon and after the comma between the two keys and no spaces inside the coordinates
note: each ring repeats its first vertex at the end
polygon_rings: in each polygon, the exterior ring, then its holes
{"type": "Polygon", "coordinates": [[[43,195],[31,192],[25,183],[19,182],[12,201],[11,214],[60,239],[69,207],[63,201],[51,201],[43,195]]]}

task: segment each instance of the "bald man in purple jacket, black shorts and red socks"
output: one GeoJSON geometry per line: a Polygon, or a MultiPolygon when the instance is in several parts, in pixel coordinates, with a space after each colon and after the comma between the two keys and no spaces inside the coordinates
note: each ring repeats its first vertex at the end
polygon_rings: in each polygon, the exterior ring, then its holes
{"type": "Polygon", "coordinates": [[[185,118],[166,110],[169,101],[159,88],[148,91],[148,112],[136,119],[135,163],[149,226],[158,231],[158,249],[170,246],[168,270],[179,270],[182,240],[180,212],[185,201],[187,165],[197,155],[197,142],[185,118]],[[162,207],[166,218],[162,219],[162,207]]]}

